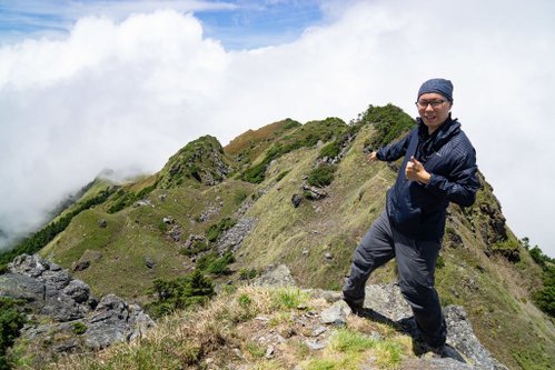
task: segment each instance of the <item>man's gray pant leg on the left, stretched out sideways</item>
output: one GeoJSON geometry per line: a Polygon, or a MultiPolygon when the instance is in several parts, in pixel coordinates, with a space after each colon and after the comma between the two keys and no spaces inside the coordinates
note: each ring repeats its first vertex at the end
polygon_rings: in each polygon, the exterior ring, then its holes
{"type": "Polygon", "coordinates": [[[364,301],[365,284],[371,271],[395,257],[392,228],[386,212],[363,237],[353,256],[350,274],[343,287],[343,294],[349,300],[364,301]]]}

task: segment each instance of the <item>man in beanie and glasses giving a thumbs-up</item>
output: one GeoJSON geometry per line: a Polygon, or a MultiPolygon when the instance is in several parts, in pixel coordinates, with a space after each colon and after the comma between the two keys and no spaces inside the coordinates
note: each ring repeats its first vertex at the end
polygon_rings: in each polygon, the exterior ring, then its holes
{"type": "Polygon", "coordinates": [[[452,82],[424,82],[416,107],[417,128],[399,142],[368,154],[370,161],[405,159],[397,181],[387,191],[386,209],[355,250],[343,294],[355,311],[361,309],[370,273],[395,257],[399,288],[413,308],[420,337],[443,354],[447,330],[434,271],[446,210],[449,202],[472,206],[479,183],[475,150],[460,123],[450,117],[452,82]]]}

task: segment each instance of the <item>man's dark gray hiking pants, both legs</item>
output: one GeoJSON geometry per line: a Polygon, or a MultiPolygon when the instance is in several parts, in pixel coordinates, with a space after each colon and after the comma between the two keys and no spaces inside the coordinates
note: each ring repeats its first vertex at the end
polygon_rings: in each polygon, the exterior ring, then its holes
{"type": "Polygon", "coordinates": [[[413,308],[424,341],[432,347],[445,344],[447,329],[434,288],[434,271],[442,243],[416,241],[396,231],[381,212],[355,250],[350,276],[343,288],[348,300],[360,301],[370,273],[394,257],[399,288],[413,308]]]}

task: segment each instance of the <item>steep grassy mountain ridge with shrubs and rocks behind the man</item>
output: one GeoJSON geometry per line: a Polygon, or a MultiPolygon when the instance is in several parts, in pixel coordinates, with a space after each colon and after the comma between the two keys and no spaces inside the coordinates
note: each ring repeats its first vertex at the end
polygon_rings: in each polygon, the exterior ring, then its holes
{"type": "MultiPolygon", "coordinates": [[[[140,303],[157,300],[155,284],[195,270],[235,284],[277,263],[303,288],[338,291],[397,173],[398,163],[370,164],[368,148],[413,124],[394,106],[370,106],[349,124],[284,120],[225,148],[199,138],[159,173],[125,186],[97,183],[83,198],[96,201],[68,208],[67,227],[40,254],[71,269],[93,294],[140,303]],[[231,264],[206,269],[218,256],[231,256],[231,264]]],[[[476,204],[449,208],[436,273],[442,303],[465,307],[480,341],[511,369],[549,369],[555,329],[531,298],[542,269],[482,180],[476,204]]],[[[395,262],[370,282],[392,281],[395,262]]]]}

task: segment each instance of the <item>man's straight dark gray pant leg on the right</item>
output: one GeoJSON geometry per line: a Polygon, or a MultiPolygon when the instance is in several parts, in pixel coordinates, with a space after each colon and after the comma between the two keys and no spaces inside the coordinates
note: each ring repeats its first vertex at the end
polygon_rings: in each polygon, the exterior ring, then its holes
{"type": "Polygon", "coordinates": [[[445,344],[447,328],[434,273],[442,243],[415,241],[395,230],[394,236],[400,291],[413,308],[424,341],[440,347],[445,344]]]}

